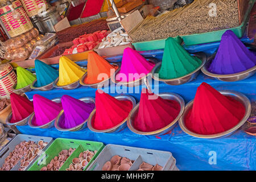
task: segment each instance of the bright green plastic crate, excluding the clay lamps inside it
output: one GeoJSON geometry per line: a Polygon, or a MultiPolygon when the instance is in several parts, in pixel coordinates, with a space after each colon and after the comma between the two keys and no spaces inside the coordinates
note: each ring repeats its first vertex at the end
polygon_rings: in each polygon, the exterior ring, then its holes
{"type": "Polygon", "coordinates": [[[97,150],[98,152],[93,156],[93,158],[84,168],[85,170],[90,165],[90,163],[92,163],[93,160],[97,158],[98,154],[100,154],[104,148],[104,144],[102,142],[92,142],[87,140],[57,138],[47,148],[46,152],[42,154],[34,164],[32,164],[28,171],[40,171],[40,169],[44,166],[47,166],[47,164],[49,164],[55,156],[58,156],[60,151],[68,150],[69,148],[76,148],[76,150],[71,154],[71,156],[69,156],[59,171],[65,171],[65,169],[68,168],[72,163],[73,158],[77,158],[80,152],[84,150],[97,150]]]}

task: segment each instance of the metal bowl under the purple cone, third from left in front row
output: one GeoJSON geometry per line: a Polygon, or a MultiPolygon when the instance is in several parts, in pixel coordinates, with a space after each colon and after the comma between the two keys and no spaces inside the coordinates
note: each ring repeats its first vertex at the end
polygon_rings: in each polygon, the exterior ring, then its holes
{"type": "MultiPolygon", "coordinates": [[[[83,98],[80,98],[79,99],[80,101],[83,101],[83,102],[92,102],[95,104],[95,100],[94,98],[92,97],[83,97],[83,98]]],[[[57,115],[57,118],[55,119],[55,128],[59,131],[79,131],[79,130],[82,130],[82,129],[85,129],[87,126],[86,126],[86,122],[88,121],[88,119],[86,119],[84,122],[82,122],[80,125],[77,125],[75,127],[72,127],[70,129],[63,129],[60,127],[59,125],[59,122],[62,121],[62,119],[64,119],[64,110],[61,110],[59,115],[57,115]]]]}

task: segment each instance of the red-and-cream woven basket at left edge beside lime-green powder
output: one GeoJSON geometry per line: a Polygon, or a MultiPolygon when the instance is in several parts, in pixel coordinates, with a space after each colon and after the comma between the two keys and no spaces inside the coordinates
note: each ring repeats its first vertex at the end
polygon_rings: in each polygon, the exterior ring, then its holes
{"type": "Polygon", "coordinates": [[[13,71],[13,67],[9,64],[0,65],[0,98],[10,98],[13,92],[11,88],[16,84],[17,77],[13,71]]]}

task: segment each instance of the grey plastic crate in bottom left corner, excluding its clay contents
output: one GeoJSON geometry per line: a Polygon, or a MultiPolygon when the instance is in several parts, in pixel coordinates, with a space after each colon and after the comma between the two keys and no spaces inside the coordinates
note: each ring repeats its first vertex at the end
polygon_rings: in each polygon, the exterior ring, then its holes
{"type": "MultiPolygon", "coordinates": [[[[40,140],[43,140],[44,142],[48,142],[47,146],[43,148],[43,151],[45,151],[48,147],[49,144],[52,143],[53,139],[51,137],[38,137],[38,136],[33,136],[33,135],[23,135],[19,134],[16,135],[16,137],[13,138],[6,146],[1,150],[0,152],[0,167],[2,167],[3,163],[5,163],[5,158],[10,154],[15,149],[15,146],[18,145],[20,142],[23,141],[34,141],[34,142],[39,142],[40,140]]],[[[27,168],[31,166],[35,162],[36,159],[38,159],[39,156],[37,156],[34,160],[31,161],[30,165],[28,165],[27,168]]],[[[11,169],[11,171],[17,171],[20,167],[20,161],[11,169]]],[[[26,169],[25,169],[26,170],[26,169]]]]}

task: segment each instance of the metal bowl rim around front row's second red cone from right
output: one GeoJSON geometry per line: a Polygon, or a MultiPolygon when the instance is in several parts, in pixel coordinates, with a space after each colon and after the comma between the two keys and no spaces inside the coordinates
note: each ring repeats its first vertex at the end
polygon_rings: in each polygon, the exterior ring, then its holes
{"type": "Polygon", "coordinates": [[[174,119],[174,121],[172,121],[169,125],[163,127],[162,129],[159,129],[159,130],[155,130],[155,131],[148,131],[148,132],[145,132],[145,131],[139,131],[137,129],[135,129],[133,127],[133,125],[131,125],[131,122],[130,122],[130,118],[131,118],[131,114],[133,114],[139,107],[139,103],[130,111],[130,114],[128,116],[128,119],[127,119],[127,126],[129,127],[129,129],[131,131],[133,131],[133,133],[136,133],[136,134],[140,134],[140,135],[156,135],[156,134],[159,134],[159,133],[162,133],[164,130],[170,128],[171,126],[174,126],[176,125],[176,123],[179,121],[181,115],[183,114],[184,112],[184,109],[185,109],[185,102],[183,100],[183,98],[179,95],[179,94],[176,94],[176,93],[172,93],[172,92],[163,92],[163,93],[159,93],[158,96],[161,97],[163,96],[164,94],[168,94],[169,96],[175,96],[177,98],[177,100],[179,101],[179,104],[180,104],[180,112],[179,114],[177,115],[177,117],[174,119]]]}

